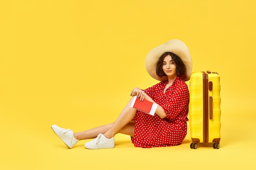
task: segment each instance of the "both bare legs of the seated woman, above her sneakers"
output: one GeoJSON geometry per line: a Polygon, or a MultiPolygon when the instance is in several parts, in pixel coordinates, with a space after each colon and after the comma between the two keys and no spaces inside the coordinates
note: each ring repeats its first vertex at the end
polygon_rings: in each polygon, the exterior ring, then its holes
{"type": "Polygon", "coordinates": [[[131,120],[135,116],[137,110],[130,107],[132,99],[129,100],[114,123],[92,128],[83,132],[76,132],[74,133],[74,137],[78,140],[92,139],[97,137],[100,133],[109,139],[114,137],[117,133],[134,136],[135,121],[131,120]]]}

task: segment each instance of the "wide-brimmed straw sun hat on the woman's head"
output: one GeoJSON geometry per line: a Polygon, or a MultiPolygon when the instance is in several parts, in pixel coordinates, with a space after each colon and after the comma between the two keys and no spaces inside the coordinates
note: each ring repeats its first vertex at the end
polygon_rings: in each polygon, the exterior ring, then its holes
{"type": "Polygon", "coordinates": [[[186,72],[184,75],[181,76],[181,78],[184,81],[188,81],[190,79],[190,75],[192,71],[191,55],[186,44],[180,40],[175,40],[175,39],[155,47],[148,53],[145,64],[146,64],[146,70],[148,71],[149,75],[154,79],[157,79],[160,81],[168,80],[167,76],[158,77],[156,74],[157,61],[159,57],[161,57],[161,55],[166,52],[174,53],[181,58],[181,60],[184,62],[186,66],[186,72]]]}

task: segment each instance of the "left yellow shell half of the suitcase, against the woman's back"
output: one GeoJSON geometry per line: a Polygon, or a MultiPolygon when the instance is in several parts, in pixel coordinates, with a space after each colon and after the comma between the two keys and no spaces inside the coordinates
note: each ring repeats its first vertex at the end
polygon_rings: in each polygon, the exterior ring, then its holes
{"type": "Polygon", "coordinates": [[[201,72],[194,72],[190,78],[189,122],[193,142],[203,141],[203,79],[201,72]]]}

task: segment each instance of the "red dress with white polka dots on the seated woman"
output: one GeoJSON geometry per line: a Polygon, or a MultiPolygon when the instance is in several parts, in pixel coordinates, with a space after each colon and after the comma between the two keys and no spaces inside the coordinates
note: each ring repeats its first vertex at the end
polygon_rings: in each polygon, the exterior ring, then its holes
{"type": "Polygon", "coordinates": [[[176,77],[164,93],[167,83],[168,81],[159,82],[144,90],[164,108],[167,117],[161,119],[156,114],[152,116],[137,110],[132,119],[136,121],[135,135],[131,137],[135,147],[175,146],[184,140],[187,133],[186,121],[189,120],[189,89],[180,77],[176,77]]]}

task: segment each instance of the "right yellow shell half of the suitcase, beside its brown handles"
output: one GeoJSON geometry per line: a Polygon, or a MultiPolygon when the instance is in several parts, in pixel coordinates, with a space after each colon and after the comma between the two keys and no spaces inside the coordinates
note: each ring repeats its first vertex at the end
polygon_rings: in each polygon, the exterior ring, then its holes
{"type": "MultiPolygon", "coordinates": [[[[208,74],[208,81],[212,82],[212,90],[208,91],[209,97],[212,96],[212,119],[208,120],[209,142],[220,141],[220,76],[215,73],[208,74]]],[[[210,109],[210,107],[209,107],[210,109]]],[[[210,113],[210,110],[209,110],[210,113]]]]}

